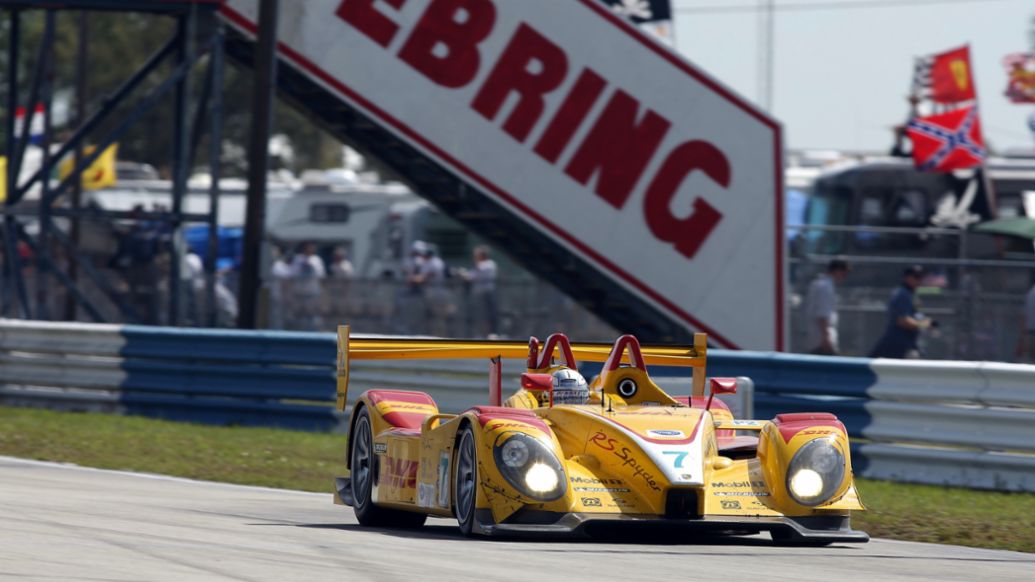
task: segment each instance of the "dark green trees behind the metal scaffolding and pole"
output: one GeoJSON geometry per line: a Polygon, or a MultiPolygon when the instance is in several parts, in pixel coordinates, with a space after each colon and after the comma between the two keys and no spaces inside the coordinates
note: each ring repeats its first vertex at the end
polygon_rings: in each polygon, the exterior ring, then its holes
{"type": "MultiPolygon", "coordinates": [[[[7,39],[9,35],[9,12],[2,12],[0,19],[0,70],[7,70],[7,39]]],[[[55,77],[54,89],[57,100],[65,99],[73,104],[76,79],[76,56],[79,49],[78,19],[80,12],[61,10],[57,13],[54,45],[55,77]]],[[[27,10],[21,16],[21,48],[19,63],[19,95],[28,99],[32,67],[43,30],[42,10],[27,10]]],[[[96,111],[108,95],[128,79],[147,58],[173,37],[176,22],[172,18],[140,12],[89,12],[89,42],[87,56],[87,112],[96,111]]],[[[193,71],[191,91],[201,91],[204,62],[193,71]]],[[[93,134],[99,138],[118,122],[148,90],[156,87],[168,75],[171,66],[166,65],[160,72],[152,75],[135,97],[123,104],[111,116],[109,123],[93,134]]],[[[6,116],[6,83],[0,80],[0,118],[6,116]]],[[[225,156],[225,175],[243,175],[243,159],[235,159],[235,149],[242,149],[248,138],[250,125],[252,75],[232,62],[227,67],[224,99],[228,107],[224,110],[224,139],[230,155],[225,156]],[[235,148],[234,146],[239,146],[235,148]]],[[[21,103],[20,105],[27,105],[21,103]]],[[[72,106],[73,107],[73,106],[72,106]]],[[[55,111],[57,108],[55,108],[55,111]]],[[[151,164],[168,175],[172,158],[173,98],[167,95],[149,113],[135,124],[119,141],[121,159],[151,164]]],[[[60,139],[73,128],[75,119],[55,125],[55,139],[60,139]]],[[[273,118],[273,133],[284,134],[291,140],[295,151],[291,170],[304,168],[326,168],[341,165],[341,144],[332,136],[314,125],[308,119],[280,101],[276,105],[273,118]]],[[[204,138],[207,139],[207,138],[204,138]]],[[[203,139],[203,140],[204,140],[203,139]]],[[[0,150],[5,147],[0,140],[0,150]]],[[[206,151],[206,144],[200,144],[199,152],[206,151]]]]}

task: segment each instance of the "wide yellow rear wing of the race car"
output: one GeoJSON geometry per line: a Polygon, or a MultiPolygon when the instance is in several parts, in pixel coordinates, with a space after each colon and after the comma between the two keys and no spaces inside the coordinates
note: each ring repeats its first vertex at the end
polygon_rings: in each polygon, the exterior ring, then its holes
{"type": "MultiPolygon", "coordinates": [[[[705,392],[705,361],[708,351],[706,333],[694,333],[692,346],[642,346],[640,353],[647,366],[688,366],[693,370],[693,396],[705,392]]],[[[337,409],[345,410],[349,395],[349,362],[354,359],[527,359],[530,370],[541,367],[555,352],[562,358],[605,362],[621,342],[616,344],[580,342],[569,344],[560,333],[551,336],[539,354],[539,342],[496,340],[409,340],[397,338],[351,338],[348,325],[337,327],[337,409]],[[555,338],[563,341],[555,341],[555,338]]],[[[624,348],[622,348],[624,349],[624,348]]],[[[626,357],[624,354],[619,357],[626,357]]],[[[574,362],[569,361],[573,366],[574,362]]]]}

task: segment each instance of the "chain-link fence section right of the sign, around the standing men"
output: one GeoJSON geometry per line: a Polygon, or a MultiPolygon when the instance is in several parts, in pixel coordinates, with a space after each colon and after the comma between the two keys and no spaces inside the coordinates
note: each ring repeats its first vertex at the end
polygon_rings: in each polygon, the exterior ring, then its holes
{"type": "Polygon", "coordinates": [[[868,355],[888,326],[887,304],[903,270],[926,275],[917,309],[935,326],[920,334],[930,359],[1017,361],[1024,304],[1033,284],[1031,243],[956,229],[796,227],[790,257],[791,349],[807,352],[804,297],[809,283],[834,258],[851,265],[837,286],[838,338],[844,355],[868,355]],[[867,251],[868,250],[868,251],[867,251]],[[835,252],[847,252],[838,253],[835,252]],[[865,254],[864,254],[865,253],[865,254]]]}

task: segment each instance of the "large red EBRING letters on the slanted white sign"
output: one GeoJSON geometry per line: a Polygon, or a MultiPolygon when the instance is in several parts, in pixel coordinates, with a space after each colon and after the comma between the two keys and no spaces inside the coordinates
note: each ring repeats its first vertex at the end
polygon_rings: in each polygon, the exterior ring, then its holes
{"type": "MultiPolygon", "coordinates": [[[[335,14],[387,50],[401,33],[393,17],[407,2],[343,0],[335,14]]],[[[396,56],[431,82],[449,89],[467,87],[482,67],[487,67],[471,109],[500,125],[520,144],[541,125],[532,150],[552,165],[570,151],[564,174],[591,187],[617,210],[625,208],[651,162],[663,156],[658,170],[648,177],[644,220],[655,237],[692,259],[722,214],[700,196],[687,209],[674,209],[673,201],[693,172],[728,190],[733,171],[727,155],[703,140],[659,151],[672,121],[644,107],[627,88],[612,86],[590,67],[572,66],[563,48],[527,23],[518,26],[491,64],[484,62],[493,56],[482,54],[481,46],[494,31],[496,16],[493,0],[432,0],[402,40],[396,56]],[[569,77],[574,77],[573,83],[556,112],[548,116],[548,95],[569,77]],[[608,92],[610,96],[604,97],[608,92]],[[507,110],[505,106],[511,103],[507,110]],[[581,142],[573,145],[572,139],[598,103],[602,103],[600,113],[581,142]]]]}

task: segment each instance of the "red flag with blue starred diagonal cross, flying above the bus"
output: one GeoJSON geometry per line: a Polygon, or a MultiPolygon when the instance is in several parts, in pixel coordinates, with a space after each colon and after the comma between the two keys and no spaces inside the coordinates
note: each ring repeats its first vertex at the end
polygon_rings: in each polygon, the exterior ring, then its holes
{"type": "Polygon", "coordinates": [[[925,172],[973,168],[986,155],[975,106],[914,117],[906,130],[913,142],[913,163],[925,172]]]}

